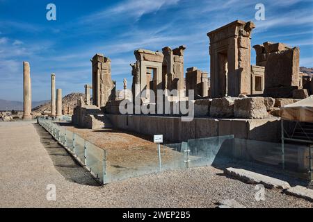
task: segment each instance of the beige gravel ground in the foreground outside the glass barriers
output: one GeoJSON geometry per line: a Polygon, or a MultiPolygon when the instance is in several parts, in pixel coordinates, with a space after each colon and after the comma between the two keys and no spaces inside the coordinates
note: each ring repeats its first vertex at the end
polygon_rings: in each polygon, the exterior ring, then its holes
{"type": "Polygon", "coordinates": [[[226,178],[214,167],[166,171],[99,187],[61,146],[31,122],[0,123],[0,207],[216,207],[234,198],[246,207],[313,207],[312,203],[226,178]],[[56,201],[46,187],[56,185],[56,201]]]}

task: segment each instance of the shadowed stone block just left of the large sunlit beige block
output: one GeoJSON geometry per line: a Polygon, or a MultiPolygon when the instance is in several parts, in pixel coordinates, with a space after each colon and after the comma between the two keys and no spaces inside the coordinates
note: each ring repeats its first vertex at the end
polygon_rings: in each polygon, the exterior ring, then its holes
{"type": "Polygon", "coordinates": [[[234,117],[234,102],[239,98],[223,97],[211,101],[211,117],[234,117]]]}

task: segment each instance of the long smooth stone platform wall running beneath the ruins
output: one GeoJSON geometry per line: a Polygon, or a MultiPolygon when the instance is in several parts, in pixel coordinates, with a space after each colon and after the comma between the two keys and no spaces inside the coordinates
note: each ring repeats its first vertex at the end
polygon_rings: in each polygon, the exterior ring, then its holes
{"type": "Polygon", "coordinates": [[[235,138],[278,142],[280,119],[195,118],[184,122],[180,117],[106,114],[115,128],[142,135],[163,135],[166,142],[234,135],[235,138]]]}

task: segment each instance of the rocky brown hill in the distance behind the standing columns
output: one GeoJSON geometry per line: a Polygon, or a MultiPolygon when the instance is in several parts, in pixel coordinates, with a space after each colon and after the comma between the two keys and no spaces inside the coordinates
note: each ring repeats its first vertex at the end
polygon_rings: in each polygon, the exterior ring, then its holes
{"type": "MultiPolygon", "coordinates": [[[[65,114],[73,114],[74,107],[77,105],[77,99],[81,96],[84,96],[83,93],[80,92],[72,92],[62,99],[63,110],[65,114]]],[[[38,107],[33,108],[33,113],[42,113],[42,112],[51,112],[50,101],[48,103],[39,105],[38,107]]]]}

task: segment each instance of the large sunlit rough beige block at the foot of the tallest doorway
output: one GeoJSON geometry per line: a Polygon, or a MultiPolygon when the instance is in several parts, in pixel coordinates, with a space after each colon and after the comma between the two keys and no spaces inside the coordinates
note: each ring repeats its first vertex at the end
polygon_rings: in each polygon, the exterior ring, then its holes
{"type": "Polygon", "coordinates": [[[264,97],[250,97],[234,101],[235,118],[263,119],[267,115],[264,97]]]}

